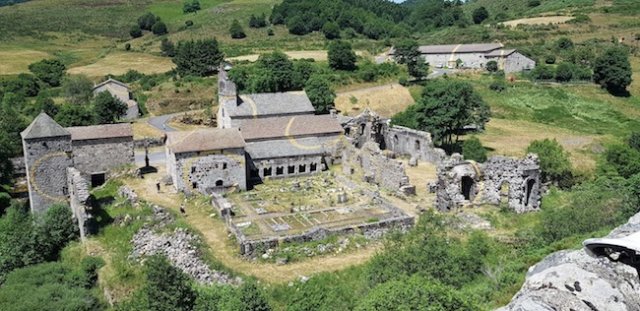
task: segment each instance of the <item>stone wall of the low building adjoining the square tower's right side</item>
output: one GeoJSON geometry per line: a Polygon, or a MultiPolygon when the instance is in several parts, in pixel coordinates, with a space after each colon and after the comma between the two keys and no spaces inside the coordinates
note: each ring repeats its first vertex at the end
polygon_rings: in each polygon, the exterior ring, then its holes
{"type": "Polygon", "coordinates": [[[85,176],[134,162],[131,137],[73,141],[73,166],[85,176]]]}

